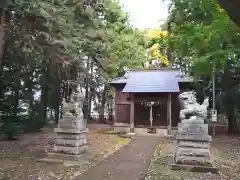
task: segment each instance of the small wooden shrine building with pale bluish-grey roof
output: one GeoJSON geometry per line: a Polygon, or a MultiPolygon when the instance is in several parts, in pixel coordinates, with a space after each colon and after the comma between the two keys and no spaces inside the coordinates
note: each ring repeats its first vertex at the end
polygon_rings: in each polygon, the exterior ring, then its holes
{"type": "Polygon", "coordinates": [[[193,78],[180,69],[135,69],[109,81],[115,89],[114,131],[173,134],[179,119],[178,95],[192,89],[193,78]]]}

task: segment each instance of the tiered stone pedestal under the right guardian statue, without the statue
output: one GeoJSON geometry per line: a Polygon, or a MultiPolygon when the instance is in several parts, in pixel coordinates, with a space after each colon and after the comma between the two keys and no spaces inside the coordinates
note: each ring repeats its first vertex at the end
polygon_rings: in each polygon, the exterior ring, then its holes
{"type": "Polygon", "coordinates": [[[203,121],[179,123],[176,140],[177,147],[172,169],[217,173],[211,160],[211,136],[208,135],[207,124],[203,121]]]}

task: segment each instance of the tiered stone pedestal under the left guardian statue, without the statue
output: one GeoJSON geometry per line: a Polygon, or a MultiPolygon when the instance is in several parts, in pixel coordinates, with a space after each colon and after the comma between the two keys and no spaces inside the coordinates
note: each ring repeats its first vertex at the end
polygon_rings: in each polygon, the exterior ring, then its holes
{"type": "Polygon", "coordinates": [[[63,163],[67,166],[82,165],[92,158],[87,151],[87,128],[83,114],[76,116],[64,114],[59,120],[53,152],[40,161],[48,163],[63,163]],[[84,153],[84,156],[83,156],[84,153]],[[86,154],[86,155],[85,155],[86,154]]]}

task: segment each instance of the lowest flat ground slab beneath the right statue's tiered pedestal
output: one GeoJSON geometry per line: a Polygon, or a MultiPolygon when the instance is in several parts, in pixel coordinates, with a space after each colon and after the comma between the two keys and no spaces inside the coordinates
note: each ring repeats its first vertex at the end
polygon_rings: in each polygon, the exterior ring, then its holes
{"type": "Polygon", "coordinates": [[[218,174],[218,169],[213,166],[192,166],[192,165],[183,165],[183,164],[172,164],[172,170],[185,170],[190,172],[201,172],[201,173],[213,173],[218,174]]]}

